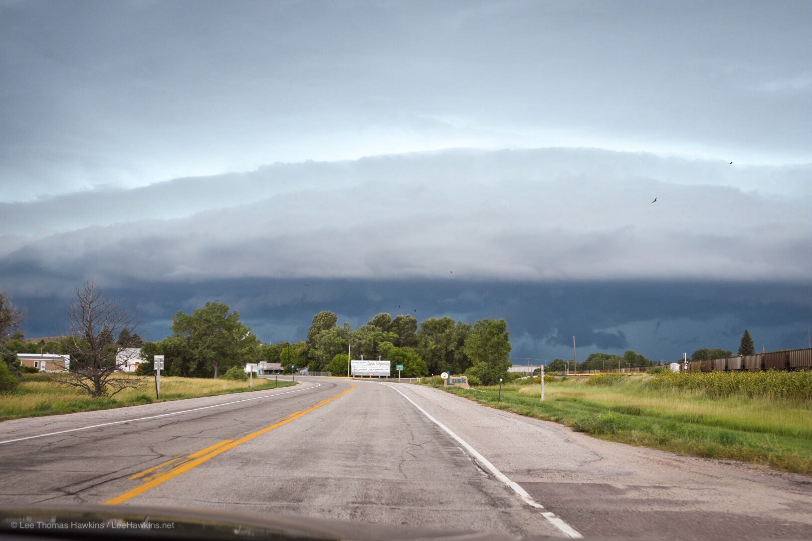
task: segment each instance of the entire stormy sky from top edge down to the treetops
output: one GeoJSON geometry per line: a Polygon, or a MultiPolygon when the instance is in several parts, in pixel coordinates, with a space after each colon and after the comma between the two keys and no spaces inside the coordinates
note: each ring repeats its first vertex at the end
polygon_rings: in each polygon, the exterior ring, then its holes
{"type": "Polygon", "coordinates": [[[28,336],[94,279],[152,339],[217,299],[265,341],[331,310],[504,317],[517,359],[806,346],[810,26],[808,2],[2,0],[0,290],[28,336]]]}

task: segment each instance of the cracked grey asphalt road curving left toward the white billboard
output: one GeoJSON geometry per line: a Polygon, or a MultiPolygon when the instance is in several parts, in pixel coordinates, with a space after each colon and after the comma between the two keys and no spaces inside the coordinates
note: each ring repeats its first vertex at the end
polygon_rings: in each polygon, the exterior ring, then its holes
{"type": "Polygon", "coordinates": [[[296,379],[0,423],[0,507],[218,509],[557,538],[812,539],[806,476],[613,444],[416,385],[296,379]]]}

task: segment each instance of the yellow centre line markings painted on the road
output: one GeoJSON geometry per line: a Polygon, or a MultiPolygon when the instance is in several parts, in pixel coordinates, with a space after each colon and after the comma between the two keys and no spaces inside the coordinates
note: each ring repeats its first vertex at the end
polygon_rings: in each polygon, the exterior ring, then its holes
{"type": "MultiPolygon", "coordinates": [[[[327,398],[326,400],[322,400],[318,402],[315,406],[308,408],[307,410],[296,411],[292,414],[289,414],[276,423],[270,425],[270,427],[265,427],[257,432],[252,432],[248,434],[248,436],[243,436],[239,440],[224,440],[218,444],[214,444],[210,447],[205,449],[201,449],[197,451],[197,453],[192,453],[186,457],[186,460],[180,462],[179,464],[172,466],[171,470],[167,471],[164,474],[155,474],[150,475],[147,477],[149,481],[147,483],[142,484],[140,487],[133,488],[130,492],[125,492],[121,496],[116,496],[112,500],[107,500],[104,505],[119,505],[127,500],[132,500],[132,498],[138,496],[139,494],[143,494],[147,492],[149,489],[157,487],[159,484],[166,483],[166,481],[170,479],[174,479],[179,474],[183,474],[188,470],[192,470],[192,468],[196,468],[200,466],[203,462],[209,461],[212,458],[216,457],[220,453],[225,453],[228,449],[234,449],[237,445],[244,444],[248,440],[253,440],[257,436],[261,436],[266,432],[270,432],[274,430],[274,428],[281,427],[283,424],[290,423],[296,419],[299,419],[301,416],[309,414],[313,410],[317,410],[318,408],[324,406],[325,404],[334,401],[336,398],[343,397],[345,394],[355,389],[356,386],[352,385],[349,389],[344,391],[343,393],[339,393],[335,395],[335,397],[327,398]]],[[[132,475],[130,479],[140,479],[142,477],[146,477],[149,474],[152,474],[154,471],[161,470],[165,466],[170,466],[171,464],[175,464],[183,457],[175,457],[170,461],[164,462],[158,466],[154,466],[149,468],[149,470],[144,470],[138,474],[132,475]]]]}

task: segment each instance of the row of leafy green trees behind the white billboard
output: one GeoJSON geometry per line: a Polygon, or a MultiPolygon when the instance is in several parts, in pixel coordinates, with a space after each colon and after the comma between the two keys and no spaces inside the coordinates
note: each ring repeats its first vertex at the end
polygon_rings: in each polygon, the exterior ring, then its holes
{"type": "Polygon", "coordinates": [[[295,366],[346,374],[351,345],[353,359],[388,359],[393,366],[404,365],[404,377],[450,371],[491,383],[510,366],[504,320],[466,324],[444,317],[418,324],[411,315],[393,318],[381,313],[353,329],[348,323],[339,325],[335,313],[321,311],[313,317],[305,341],[266,345],[226,303],[206,303],[192,314],[179,311],[171,328],[171,336],[142,347],[145,363],[140,371],[150,373],[149,359],[162,354],[171,376],[218,377],[230,367],[257,361],[280,363],[288,372],[295,366]]]}

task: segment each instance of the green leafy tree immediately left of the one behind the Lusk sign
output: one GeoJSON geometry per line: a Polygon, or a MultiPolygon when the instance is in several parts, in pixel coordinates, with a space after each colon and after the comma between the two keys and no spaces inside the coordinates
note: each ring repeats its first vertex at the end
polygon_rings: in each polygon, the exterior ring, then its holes
{"type": "Polygon", "coordinates": [[[471,361],[464,346],[470,332],[471,324],[455,323],[450,317],[430,318],[420,324],[415,350],[425,360],[430,374],[462,374],[469,369],[471,361]]]}

